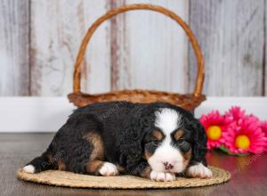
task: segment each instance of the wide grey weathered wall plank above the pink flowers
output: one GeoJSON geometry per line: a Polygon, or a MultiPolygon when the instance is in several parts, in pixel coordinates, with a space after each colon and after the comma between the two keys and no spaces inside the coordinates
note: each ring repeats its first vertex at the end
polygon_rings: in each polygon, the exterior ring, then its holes
{"type": "MultiPolygon", "coordinates": [[[[263,20],[264,0],[190,0],[190,27],[206,59],[207,95],[262,95],[263,20]]],[[[192,59],[190,52],[190,87],[192,59]]]]}

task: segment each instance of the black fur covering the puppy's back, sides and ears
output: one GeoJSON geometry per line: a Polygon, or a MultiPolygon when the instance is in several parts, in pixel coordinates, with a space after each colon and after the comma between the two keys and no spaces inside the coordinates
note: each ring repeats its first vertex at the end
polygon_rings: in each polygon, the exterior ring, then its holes
{"type": "Polygon", "coordinates": [[[79,108],[54,135],[47,151],[27,165],[33,165],[36,172],[40,172],[57,169],[61,159],[66,170],[88,174],[85,166],[93,151],[93,144],[88,143],[84,136],[88,132],[96,132],[104,143],[103,160],[124,167],[127,174],[140,176],[149,166],[143,159],[145,136],[153,129],[155,111],[160,108],[171,108],[182,114],[183,128],[190,133],[186,137],[188,145],[183,143],[181,149],[188,151],[189,146],[192,146],[190,164],[202,162],[206,165],[206,133],[198,119],[189,111],[161,102],[103,102],[79,108]]]}

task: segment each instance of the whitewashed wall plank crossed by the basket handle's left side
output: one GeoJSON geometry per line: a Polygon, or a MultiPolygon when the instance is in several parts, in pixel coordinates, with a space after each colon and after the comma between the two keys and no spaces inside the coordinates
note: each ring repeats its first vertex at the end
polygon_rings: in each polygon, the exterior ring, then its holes
{"type": "MultiPolygon", "coordinates": [[[[31,94],[62,95],[72,91],[72,73],[85,31],[107,1],[31,1],[31,94]]],[[[83,90],[109,91],[109,22],[95,33],[85,55],[83,90]]]]}

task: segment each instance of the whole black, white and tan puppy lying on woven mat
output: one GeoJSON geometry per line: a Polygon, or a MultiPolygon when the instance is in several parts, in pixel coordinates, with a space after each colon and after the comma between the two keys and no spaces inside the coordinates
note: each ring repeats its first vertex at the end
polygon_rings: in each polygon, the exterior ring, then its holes
{"type": "Polygon", "coordinates": [[[189,111],[161,102],[102,102],[75,110],[23,170],[174,181],[180,173],[211,177],[205,156],[205,130],[189,111]]]}

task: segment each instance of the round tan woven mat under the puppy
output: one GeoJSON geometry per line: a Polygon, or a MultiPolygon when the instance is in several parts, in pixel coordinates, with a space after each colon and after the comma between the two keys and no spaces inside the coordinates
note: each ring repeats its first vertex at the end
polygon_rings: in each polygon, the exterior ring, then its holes
{"type": "Polygon", "coordinates": [[[88,176],[71,172],[49,170],[38,174],[28,174],[18,170],[18,177],[22,180],[51,184],[56,186],[108,188],[108,189],[164,189],[197,187],[212,184],[222,184],[231,178],[231,174],[218,167],[209,167],[214,176],[209,179],[177,177],[174,182],[153,182],[149,179],[136,176],[88,176]]]}

